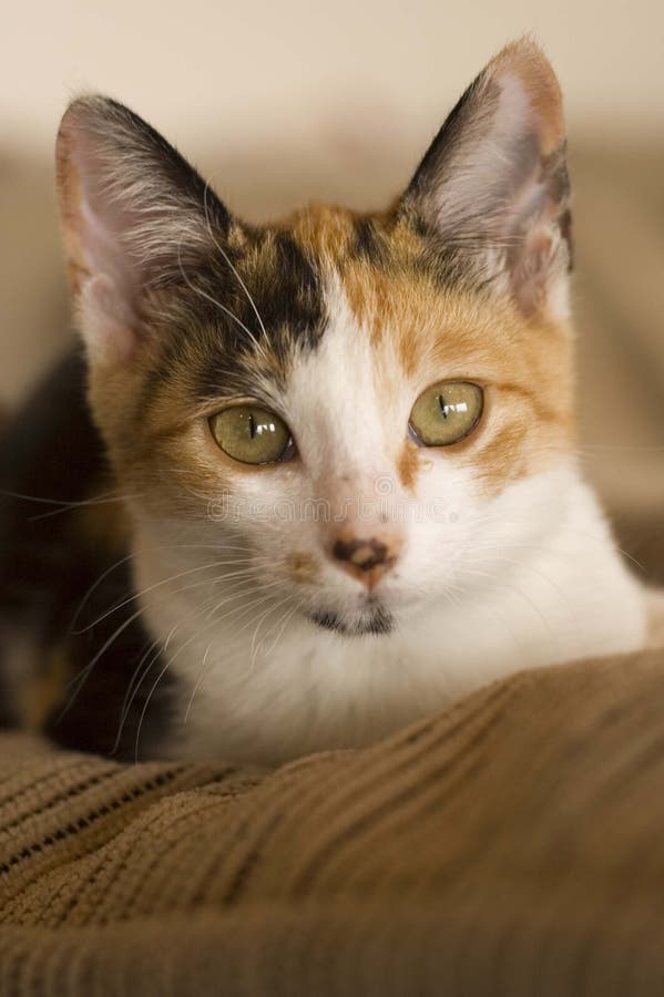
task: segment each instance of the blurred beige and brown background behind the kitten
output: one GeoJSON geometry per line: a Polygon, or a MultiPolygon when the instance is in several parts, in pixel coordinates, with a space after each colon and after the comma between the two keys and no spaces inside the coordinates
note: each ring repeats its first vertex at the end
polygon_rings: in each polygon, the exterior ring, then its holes
{"type": "Polygon", "coordinates": [[[0,404],[68,343],[52,147],[75,94],[130,104],[261,220],[379,207],[460,92],[530,32],[566,101],[582,453],[620,539],[664,580],[664,4],[655,0],[81,0],[6,9],[0,404]]]}

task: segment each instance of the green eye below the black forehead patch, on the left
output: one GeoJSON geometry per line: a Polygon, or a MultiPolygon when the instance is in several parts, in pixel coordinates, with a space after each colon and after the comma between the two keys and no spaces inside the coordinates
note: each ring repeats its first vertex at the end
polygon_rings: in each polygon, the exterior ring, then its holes
{"type": "Polygon", "coordinates": [[[233,405],[210,420],[212,435],[234,461],[274,464],[294,452],[290,430],[283,419],[259,405],[233,405]]]}

